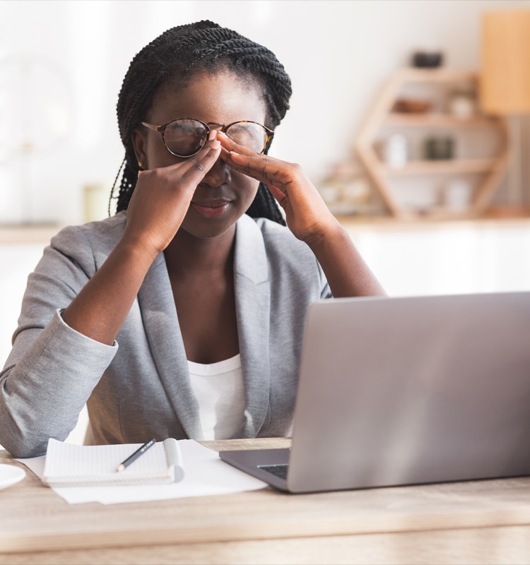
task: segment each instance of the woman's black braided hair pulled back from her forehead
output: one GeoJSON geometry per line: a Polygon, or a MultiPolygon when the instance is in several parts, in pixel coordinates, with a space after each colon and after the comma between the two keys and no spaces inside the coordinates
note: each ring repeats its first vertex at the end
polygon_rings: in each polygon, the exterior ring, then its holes
{"type": "MultiPolygon", "coordinates": [[[[278,126],[289,108],[292,90],[283,65],[269,49],[208,20],[165,31],[136,54],[119,92],[117,118],[125,157],[114,179],[115,186],[123,169],[117,197],[112,186],[109,213],[113,198],[117,198],[117,212],[129,206],[139,172],[132,133],[144,119],[158,88],[168,81],[187,82],[203,71],[221,69],[229,69],[244,80],[254,78],[263,90],[265,125],[270,129],[278,126]]],[[[285,225],[276,199],[264,183],[259,184],[247,214],[285,225]]]]}

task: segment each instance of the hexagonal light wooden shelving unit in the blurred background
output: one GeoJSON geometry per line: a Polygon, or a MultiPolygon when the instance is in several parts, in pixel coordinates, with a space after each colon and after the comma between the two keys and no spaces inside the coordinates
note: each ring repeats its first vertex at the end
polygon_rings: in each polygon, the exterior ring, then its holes
{"type": "Polygon", "coordinates": [[[375,100],[355,143],[355,150],[391,215],[396,218],[476,218],[490,206],[507,168],[507,124],[502,117],[486,116],[478,109],[469,117],[451,114],[447,110],[449,93],[452,88],[463,84],[476,95],[479,86],[476,73],[451,69],[404,69],[389,79],[375,100]],[[396,101],[411,85],[422,88],[423,97],[427,100],[431,97],[436,102],[424,112],[396,112],[396,101]],[[421,136],[421,132],[459,136],[461,132],[481,131],[482,136],[495,136],[499,141],[492,155],[455,153],[445,160],[427,160],[421,155],[412,155],[404,166],[393,168],[384,162],[377,148],[377,144],[388,135],[385,132],[389,131],[404,135],[412,132],[416,136],[421,136]],[[406,206],[392,186],[396,179],[401,182],[404,179],[418,181],[421,177],[427,190],[429,184],[440,182],[441,177],[449,180],[459,176],[473,176],[470,203],[464,210],[454,210],[440,203],[432,203],[427,208],[406,206]]]}

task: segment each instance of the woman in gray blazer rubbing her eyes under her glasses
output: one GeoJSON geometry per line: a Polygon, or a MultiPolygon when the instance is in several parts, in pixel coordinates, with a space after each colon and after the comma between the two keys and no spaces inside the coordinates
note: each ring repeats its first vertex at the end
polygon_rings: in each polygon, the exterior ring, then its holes
{"type": "Polygon", "coordinates": [[[290,93],[269,49],[209,21],[134,57],[117,213],[61,230],[28,279],[0,376],[13,456],[85,403],[96,444],[290,433],[308,305],[383,292],[300,167],[266,155],[290,93]]]}

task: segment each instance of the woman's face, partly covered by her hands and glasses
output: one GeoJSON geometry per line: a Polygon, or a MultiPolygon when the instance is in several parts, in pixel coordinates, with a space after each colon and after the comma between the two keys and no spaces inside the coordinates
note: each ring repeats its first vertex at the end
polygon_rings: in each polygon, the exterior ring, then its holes
{"type": "MultiPolygon", "coordinates": [[[[164,85],[155,94],[145,121],[160,125],[177,118],[196,118],[206,124],[239,120],[264,124],[265,114],[257,83],[223,71],[202,73],[191,78],[184,88],[164,85]]],[[[148,128],[136,133],[134,145],[145,169],[167,167],[183,160],[167,151],[160,133],[148,128]]],[[[197,186],[180,229],[199,238],[216,237],[233,229],[254,200],[258,185],[256,180],[235,172],[218,159],[197,186]]]]}

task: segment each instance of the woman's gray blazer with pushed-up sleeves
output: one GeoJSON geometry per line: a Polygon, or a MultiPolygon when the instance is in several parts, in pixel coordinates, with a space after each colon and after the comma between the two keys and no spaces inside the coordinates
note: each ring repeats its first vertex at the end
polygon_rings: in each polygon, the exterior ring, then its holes
{"type": "MultiPolygon", "coordinates": [[[[0,374],[0,444],[46,450],[87,403],[93,441],[201,439],[199,409],[164,254],[155,259],[114,345],[64,323],[61,309],[114,249],[126,213],[61,230],[28,278],[13,349],[0,374]]],[[[307,307],[329,297],[310,249],[269,220],[244,215],[235,237],[237,331],[245,424],[237,437],[283,436],[293,418],[307,307]]]]}

